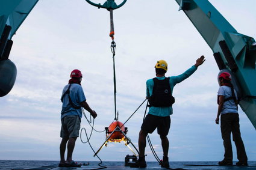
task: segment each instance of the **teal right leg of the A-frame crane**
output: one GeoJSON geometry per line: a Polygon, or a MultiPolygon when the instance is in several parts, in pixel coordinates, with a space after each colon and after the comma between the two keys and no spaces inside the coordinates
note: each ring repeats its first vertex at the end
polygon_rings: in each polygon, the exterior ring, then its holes
{"type": "Polygon", "coordinates": [[[213,50],[220,70],[237,80],[239,105],[256,129],[256,43],[240,34],[207,0],[175,0],[213,50]]]}

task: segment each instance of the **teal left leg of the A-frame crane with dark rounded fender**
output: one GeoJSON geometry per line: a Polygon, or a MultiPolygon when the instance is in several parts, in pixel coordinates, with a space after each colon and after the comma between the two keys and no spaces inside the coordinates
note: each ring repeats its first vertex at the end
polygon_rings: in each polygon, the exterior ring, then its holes
{"type": "Polygon", "coordinates": [[[7,95],[16,80],[17,68],[9,55],[11,38],[39,0],[0,1],[0,97],[7,95]]]}

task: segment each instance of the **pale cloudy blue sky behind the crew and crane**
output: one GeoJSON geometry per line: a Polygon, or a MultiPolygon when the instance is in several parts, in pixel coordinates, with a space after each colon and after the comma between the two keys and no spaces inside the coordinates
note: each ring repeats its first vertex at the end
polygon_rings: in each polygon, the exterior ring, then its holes
{"type": "MultiPolygon", "coordinates": [[[[103,4],[105,1],[93,1],[103,4]]],[[[256,37],[256,1],[210,0],[211,4],[241,34],[256,37]]],[[[117,4],[120,1],[116,1],[117,4]]],[[[206,61],[173,90],[175,104],[171,127],[170,161],[218,161],[223,159],[223,141],[217,115],[217,74],[213,52],[176,1],[127,1],[114,10],[117,46],[116,84],[119,121],[125,122],[145,100],[146,80],[155,76],[159,59],[168,63],[166,76],[190,68],[199,56],[206,61]]],[[[87,102],[98,117],[95,129],[102,131],[114,120],[113,59],[109,12],[83,0],[42,0],[13,36],[10,57],[17,78],[11,92],[0,97],[0,159],[59,160],[61,93],[70,71],[83,73],[81,82],[87,102]]],[[[137,147],[146,105],[125,124],[127,136],[137,147]]],[[[256,160],[255,129],[239,108],[240,131],[248,160],[256,160]]],[[[87,117],[89,113],[87,112],[87,117]]],[[[81,127],[90,132],[82,118],[81,127]]],[[[162,157],[157,131],[149,135],[162,157]]],[[[81,135],[86,141],[85,133],[81,135]]],[[[93,132],[90,143],[96,151],[105,133],[93,132]]],[[[233,144],[234,160],[236,147],[233,144]]],[[[99,161],[89,144],[76,141],[73,159],[99,161]]],[[[123,161],[133,154],[121,142],[109,143],[98,156],[102,161],[123,161]],[[114,153],[114,154],[113,154],[114,153]]],[[[146,147],[146,160],[156,161],[146,147]]]]}

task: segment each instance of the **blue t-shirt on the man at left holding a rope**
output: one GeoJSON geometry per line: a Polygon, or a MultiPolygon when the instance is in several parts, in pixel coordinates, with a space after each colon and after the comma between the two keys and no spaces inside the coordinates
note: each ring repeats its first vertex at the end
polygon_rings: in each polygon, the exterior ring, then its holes
{"type": "MultiPolygon", "coordinates": [[[[81,102],[86,101],[86,96],[84,96],[84,91],[81,85],[78,85],[76,83],[72,83],[70,86],[70,93],[64,94],[67,91],[67,88],[69,88],[69,84],[66,85],[63,88],[62,96],[63,96],[63,102],[62,102],[62,110],[61,110],[61,119],[64,118],[67,115],[78,115],[80,118],[82,118],[82,110],[81,108],[75,109],[72,107],[72,105],[69,103],[69,96],[72,100],[72,103],[75,107],[79,107],[81,102]]],[[[61,97],[62,97],[61,96],[61,97]]]]}

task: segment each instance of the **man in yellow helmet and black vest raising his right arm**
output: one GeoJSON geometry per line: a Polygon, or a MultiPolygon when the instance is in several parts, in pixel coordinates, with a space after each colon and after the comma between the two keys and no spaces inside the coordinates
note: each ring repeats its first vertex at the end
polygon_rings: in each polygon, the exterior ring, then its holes
{"type": "Polygon", "coordinates": [[[172,114],[172,104],[174,102],[172,98],[173,87],[176,83],[182,82],[187,77],[191,76],[199,65],[205,61],[204,56],[196,60],[196,64],[185,71],[179,76],[165,77],[167,71],[167,62],[164,60],[157,61],[155,64],[155,74],[154,79],[149,79],[146,81],[146,98],[149,99],[148,115],[146,115],[145,120],[139,133],[139,159],[136,163],[131,165],[131,168],[145,168],[145,147],[146,147],[146,136],[148,133],[154,132],[157,128],[157,133],[161,138],[161,145],[163,148],[163,162],[161,162],[162,168],[169,168],[168,150],[169,141],[167,135],[170,129],[170,115],[172,114]],[[167,80],[167,88],[165,88],[164,81],[167,80]],[[157,87],[155,86],[157,83],[157,87]],[[161,88],[163,88],[164,94],[161,94],[161,88]],[[155,92],[155,93],[154,93],[155,92]],[[164,103],[164,104],[162,104],[164,103]]]}

